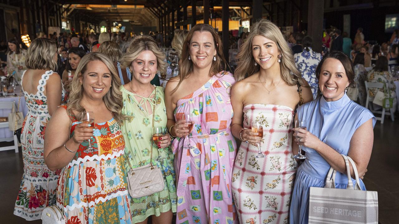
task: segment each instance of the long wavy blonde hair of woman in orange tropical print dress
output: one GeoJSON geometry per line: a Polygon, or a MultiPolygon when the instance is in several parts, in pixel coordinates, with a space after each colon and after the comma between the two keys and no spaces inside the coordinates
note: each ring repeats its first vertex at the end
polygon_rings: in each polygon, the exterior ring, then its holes
{"type": "Polygon", "coordinates": [[[77,66],[75,76],[72,79],[71,83],[71,92],[69,94],[69,102],[67,107],[68,114],[75,110],[77,114],[75,117],[77,120],[81,120],[81,113],[85,112],[85,108],[81,105],[81,100],[83,98],[83,86],[80,84],[79,78],[83,78],[83,74],[87,70],[87,64],[91,61],[101,61],[103,62],[111,72],[111,87],[107,94],[103,96],[103,101],[108,110],[112,112],[113,118],[119,123],[123,124],[123,121],[126,119],[126,116],[121,114],[122,111],[122,92],[120,92],[120,79],[119,75],[117,75],[117,70],[115,70],[115,66],[113,65],[111,59],[107,57],[107,55],[99,52],[92,52],[85,55],[79,65],[77,66]]]}

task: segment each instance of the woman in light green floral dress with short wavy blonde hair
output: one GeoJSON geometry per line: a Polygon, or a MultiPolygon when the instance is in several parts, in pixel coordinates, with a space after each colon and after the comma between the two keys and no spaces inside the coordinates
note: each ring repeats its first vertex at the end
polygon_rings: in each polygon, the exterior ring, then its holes
{"type": "Polygon", "coordinates": [[[122,114],[128,116],[122,126],[126,141],[125,167],[129,171],[150,164],[151,159],[161,169],[165,183],[164,189],[158,193],[131,199],[132,223],[146,224],[148,217],[152,216],[155,223],[170,224],[172,212],[176,212],[174,155],[169,147],[171,138],[164,132],[156,144],[152,140],[152,127],[166,128],[164,88],[150,83],[157,73],[164,72],[164,59],[165,54],[154,39],[138,36],[130,43],[121,60],[122,65],[129,67],[133,74],[132,81],[120,88],[122,114]],[[156,161],[158,156],[164,160],[156,161]]]}

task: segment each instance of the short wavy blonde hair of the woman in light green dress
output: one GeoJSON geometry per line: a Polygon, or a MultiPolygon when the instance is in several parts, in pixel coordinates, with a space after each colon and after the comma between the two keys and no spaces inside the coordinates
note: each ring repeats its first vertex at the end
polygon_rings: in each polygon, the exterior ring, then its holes
{"type": "Polygon", "coordinates": [[[159,49],[158,44],[154,41],[154,39],[147,35],[137,36],[130,42],[129,47],[126,50],[126,54],[123,55],[120,63],[122,64],[122,66],[130,68],[132,62],[136,60],[136,58],[138,57],[138,55],[140,55],[142,51],[152,51],[152,53],[154,53],[154,55],[156,56],[158,72],[165,73],[165,53],[164,51],[159,49]]]}

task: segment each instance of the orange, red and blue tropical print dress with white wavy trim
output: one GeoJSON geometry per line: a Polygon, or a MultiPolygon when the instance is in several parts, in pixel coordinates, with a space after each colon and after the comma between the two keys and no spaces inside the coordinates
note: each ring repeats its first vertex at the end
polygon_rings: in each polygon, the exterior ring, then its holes
{"type": "MultiPolygon", "coordinates": [[[[71,116],[71,138],[80,123],[71,116]]],[[[57,205],[63,208],[67,224],[130,224],[120,126],[112,118],[95,124],[93,135],[91,145],[98,151],[85,153],[88,141],[79,145],[58,179],[57,205]]]]}

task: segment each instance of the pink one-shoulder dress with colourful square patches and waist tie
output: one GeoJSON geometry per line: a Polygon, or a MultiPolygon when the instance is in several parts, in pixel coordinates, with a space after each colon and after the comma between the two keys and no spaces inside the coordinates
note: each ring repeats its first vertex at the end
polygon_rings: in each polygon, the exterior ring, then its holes
{"type": "Polygon", "coordinates": [[[201,88],[178,100],[176,120],[191,113],[195,122],[190,144],[188,138],[172,143],[177,180],[176,224],[238,223],[231,195],[231,172],[236,145],[230,130],[233,108],[231,73],[213,76],[201,88]]]}

